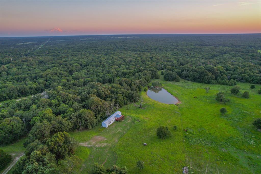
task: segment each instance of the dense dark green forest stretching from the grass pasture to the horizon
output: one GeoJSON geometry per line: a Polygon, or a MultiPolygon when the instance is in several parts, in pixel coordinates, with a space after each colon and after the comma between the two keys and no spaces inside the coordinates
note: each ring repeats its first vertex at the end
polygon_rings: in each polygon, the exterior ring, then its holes
{"type": "Polygon", "coordinates": [[[28,136],[15,171],[59,173],[77,161],[67,131],[137,101],[160,70],[169,81],[261,84],[260,43],[261,34],[0,38],[0,144],[28,136]]]}

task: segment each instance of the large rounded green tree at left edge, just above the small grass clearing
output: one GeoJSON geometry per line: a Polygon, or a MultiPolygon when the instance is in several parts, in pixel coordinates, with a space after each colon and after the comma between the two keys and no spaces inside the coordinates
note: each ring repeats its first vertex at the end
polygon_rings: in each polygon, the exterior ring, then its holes
{"type": "Polygon", "coordinates": [[[25,124],[18,117],[5,118],[0,124],[0,144],[7,144],[25,135],[25,124]]]}

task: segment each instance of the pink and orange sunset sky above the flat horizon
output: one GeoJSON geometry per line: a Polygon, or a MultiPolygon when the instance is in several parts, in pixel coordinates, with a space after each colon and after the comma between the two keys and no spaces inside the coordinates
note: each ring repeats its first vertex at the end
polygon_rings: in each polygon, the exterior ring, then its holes
{"type": "Polygon", "coordinates": [[[0,37],[261,33],[257,1],[0,1],[0,37]]]}

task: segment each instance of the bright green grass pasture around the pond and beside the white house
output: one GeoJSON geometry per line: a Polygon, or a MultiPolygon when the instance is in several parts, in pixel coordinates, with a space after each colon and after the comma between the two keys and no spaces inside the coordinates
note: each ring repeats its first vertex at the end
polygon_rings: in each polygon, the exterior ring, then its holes
{"type": "MultiPolygon", "coordinates": [[[[189,173],[261,173],[261,132],[252,125],[261,118],[261,95],[257,93],[261,85],[251,89],[251,84],[238,83],[241,92],[250,93],[250,98],[242,98],[230,94],[231,86],[162,78],[164,89],[181,101],[179,106],[154,101],[143,91],[143,109],[133,104],[120,108],[124,121],[108,128],[98,125],[69,132],[80,142],[75,154],[83,161],[82,173],[88,173],[95,162],[105,168],[126,166],[129,173],[182,173],[184,166],[189,173]],[[206,86],[210,86],[209,93],[206,86]],[[230,102],[217,102],[219,91],[230,102]],[[222,107],[228,110],[224,115],[219,111],[222,107]],[[168,126],[173,136],[158,139],[160,125],[168,126]],[[138,160],[144,161],[144,169],[137,169],[138,160]]],[[[8,153],[23,151],[19,143],[0,148],[8,153]]]]}

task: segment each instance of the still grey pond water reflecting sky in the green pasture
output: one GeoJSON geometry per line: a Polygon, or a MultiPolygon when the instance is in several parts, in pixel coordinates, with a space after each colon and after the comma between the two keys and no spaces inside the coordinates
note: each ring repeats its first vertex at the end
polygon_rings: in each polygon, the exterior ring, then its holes
{"type": "Polygon", "coordinates": [[[176,104],[179,102],[179,100],[171,95],[168,91],[166,91],[164,88],[155,88],[151,86],[149,90],[147,91],[147,96],[149,96],[151,99],[159,101],[161,103],[165,104],[176,104]]]}

